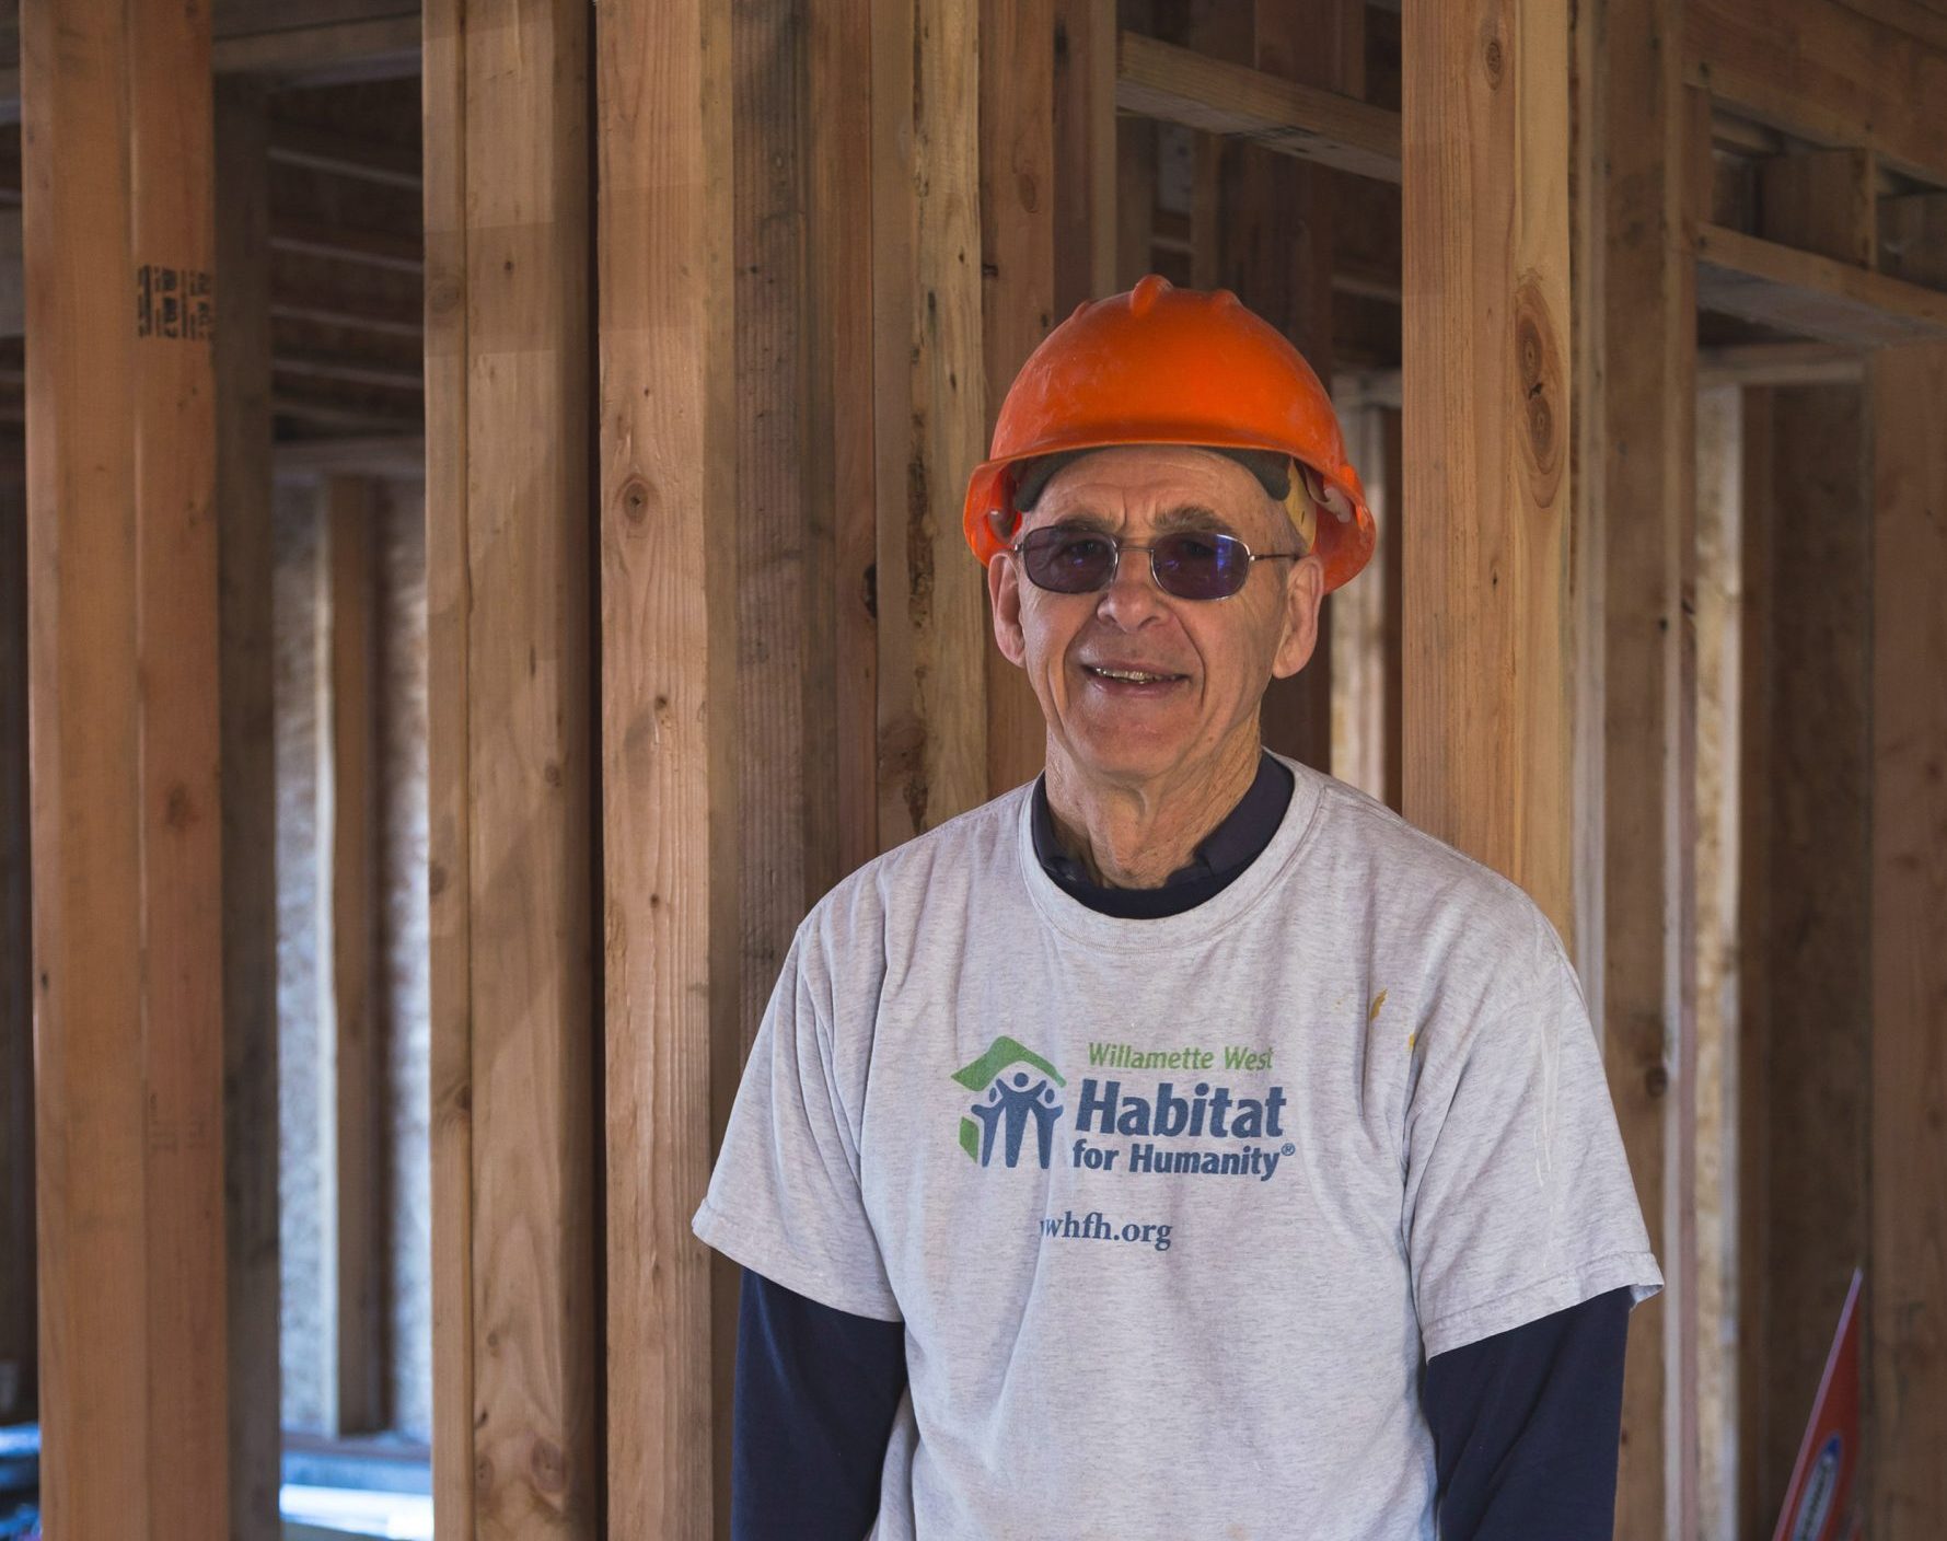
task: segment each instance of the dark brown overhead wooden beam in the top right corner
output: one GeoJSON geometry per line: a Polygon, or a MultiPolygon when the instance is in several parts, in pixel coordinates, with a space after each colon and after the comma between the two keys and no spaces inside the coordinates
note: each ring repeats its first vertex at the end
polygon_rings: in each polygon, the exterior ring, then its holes
{"type": "Polygon", "coordinates": [[[1686,0],[1686,78],[1758,123],[1947,187],[1947,49],[1838,0],[1686,0]]]}

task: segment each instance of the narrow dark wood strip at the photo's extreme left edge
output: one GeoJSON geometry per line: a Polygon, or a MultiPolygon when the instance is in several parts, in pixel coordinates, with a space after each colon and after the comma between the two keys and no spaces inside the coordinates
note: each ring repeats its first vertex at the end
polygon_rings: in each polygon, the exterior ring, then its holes
{"type": "Polygon", "coordinates": [[[35,1416],[33,957],[27,873],[27,499],[0,481],[0,1420],[35,1416]]]}

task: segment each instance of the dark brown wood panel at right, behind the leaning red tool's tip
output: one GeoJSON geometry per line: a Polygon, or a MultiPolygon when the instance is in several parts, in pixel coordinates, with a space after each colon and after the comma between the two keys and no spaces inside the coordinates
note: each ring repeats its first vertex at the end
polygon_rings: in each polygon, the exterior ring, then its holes
{"type": "MultiPolygon", "coordinates": [[[[1873,547],[1855,386],[1746,394],[1739,1202],[1745,1520],[1776,1516],[1852,1270],[1867,1257],[1873,547]],[[1762,734],[1762,738],[1760,738],[1762,734]],[[1760,886],[1762,884],[1762,886],[1760,886]],[[1752,920],[1762,918],[1762,929],[1752,920]],[[1756,1297],[1752,1296],[1756,1292],[1756,1297]],[[1762,1307],[1762,1309],[1754,1309],[1762,1307]],[[1754,1383],[1752,1383],[1754,1381],[1754,1383]]],[[[1877,1533],[1877,1527],[1875,1527],[1877,1533]]]]}

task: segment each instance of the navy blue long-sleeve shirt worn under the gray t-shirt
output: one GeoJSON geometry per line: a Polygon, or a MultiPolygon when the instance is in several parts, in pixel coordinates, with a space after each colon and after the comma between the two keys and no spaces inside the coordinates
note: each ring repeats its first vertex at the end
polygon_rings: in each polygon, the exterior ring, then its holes
{"type": "MultiPolygon", "coordinates": [[[[1034,789],[1034,849],[1073,898],[1125,920],[1203,904],[1269,844],[1291,801],[1271,756],[1160,888],[1102,888],[1034,789]]],[[[1437,1354],[1419,1385],[1443,1541],[1610,1541],[1630,1290],[1437,1354]]],[[[744,1272],[732,1432],[736,1541],[863,1541],[905,1395],[905,1327],[744,1272]]]]}

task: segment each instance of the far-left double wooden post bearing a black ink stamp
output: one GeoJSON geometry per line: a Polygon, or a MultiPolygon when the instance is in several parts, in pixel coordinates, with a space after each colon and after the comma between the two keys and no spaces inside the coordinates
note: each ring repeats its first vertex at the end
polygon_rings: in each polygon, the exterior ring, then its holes
{"type": "Polygon", "coordinates": [[[21,21],[43,1516],[224,1535],[208,18],[21,21]]]}

